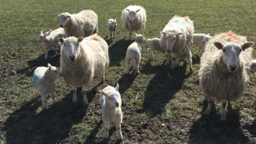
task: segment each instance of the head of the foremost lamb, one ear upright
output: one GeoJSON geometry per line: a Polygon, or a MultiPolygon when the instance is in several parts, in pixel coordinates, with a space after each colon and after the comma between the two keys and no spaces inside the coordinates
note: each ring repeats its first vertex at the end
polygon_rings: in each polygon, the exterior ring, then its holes
{"type": "Polygon", "coordinates": [[[114,90],[99,91],[101,94],[105,96],[106,103],[108,103],[111,107],[121,107],[122,105],[121,95],[118,92],[118,89],[119,89],[119,84],[116,84],[116,87],[114,90]]]}

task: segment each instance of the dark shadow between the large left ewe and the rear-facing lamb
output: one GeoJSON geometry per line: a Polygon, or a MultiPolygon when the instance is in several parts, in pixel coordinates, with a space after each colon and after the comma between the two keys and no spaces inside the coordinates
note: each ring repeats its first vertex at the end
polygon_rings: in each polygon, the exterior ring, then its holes
{"type": "Polygon", "coordinates": [[[125,59],[127,47],[133,42],[129,40],[119,40],[109,47],[109,66],[121,66],[121,61],[125,59]]]}

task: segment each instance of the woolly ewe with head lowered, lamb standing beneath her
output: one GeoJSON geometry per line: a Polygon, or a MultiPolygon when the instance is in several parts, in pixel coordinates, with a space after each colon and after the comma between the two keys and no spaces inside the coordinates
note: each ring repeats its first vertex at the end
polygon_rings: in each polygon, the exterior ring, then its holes
{"type": "Polygon", "coordinates": [[[167,65],[170,65],[171,53],[176,53],[175,62],[172,63],[171,69],[177,67],[179,63],[180,55],[186,45],[190,49],[189,43],[193,39],[194,35],[194,22],[186,17],[179,17],[174,15],[174,17],[167,23],[161,33],[160,46],[165,51],[165,61],[167,65]]]}

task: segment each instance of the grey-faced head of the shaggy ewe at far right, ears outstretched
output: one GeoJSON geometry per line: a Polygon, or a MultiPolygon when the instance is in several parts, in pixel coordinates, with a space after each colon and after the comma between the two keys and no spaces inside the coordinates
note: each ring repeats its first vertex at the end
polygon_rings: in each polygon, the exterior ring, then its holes
{"type": "Polygon", "coordinates": [[[238,68],[237,66],[239,62],[239,54],[241,53],[241,51],[245,51],[245,49],[251,47],[254,43],[247,42],[242,45],[239,45],[234,42],[228,42],[225,45],[223,45],[220,42],[214,42],[213,44],[219,50],[223,51],[222,60],[227,65],[228,71],[233,73],[238,68]]]}

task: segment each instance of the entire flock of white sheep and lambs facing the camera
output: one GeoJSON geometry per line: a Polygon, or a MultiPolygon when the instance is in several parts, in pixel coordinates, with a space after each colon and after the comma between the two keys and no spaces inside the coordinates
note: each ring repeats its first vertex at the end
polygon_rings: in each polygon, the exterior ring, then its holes
{"type": "MultiPolygon", "coordinates": [[[[34,71],[33,81],[42,97],[43,108],[47,108],[46,95],[50,94],[52,102],[55,102],[55,79],[62,77],[70,84],[73,90],[73,102],[77,101],[77,86],[82,86],[83,103],[88,105],[86,98],[87,87],[90,86],[95,76],[101,76],[101,82],[105,80],[105,70],[109,65],[108,44],[98,33],[98,17],[91,10],[83,10],[76,14],[61,13],[60,28],[49,30],[45,34],[41,31],[39,42],[45,44],[45,58],[48,51],[59,45],[60,71],[48,63],[48,67],[38,67],[34,71]]],[[[122,25],[131,34],[135,31],[135,42],[126,52],[126,74],[131,68],[139,74],[141,61],[141,43],[146,39],[142,29],[145,28],[146,10],[142,6],[130,5],[122,12],[122,25]],[[138,34],[141,30],[142,35],[138,34]]],[[[116,19],[107,21],[107,36],[115,38],[117,28],[116,19]]],[[[232,31],[216,34],[194,34],[194,22],[186,17],[175,15],[160,31],[160,38],[147,39],[149,42],[148,58],[154,59],[154,51],[165,54],[163,65],[174,69],[180,60],[185,60],[192,67],[192,54],[190,43],[198,46],[199,54],[203,47],[205,52],[201,58],[199,69],[199,85],[202,92],[209,98],[209,105],[205,114],[209,114],[214,100],[221,101],[221,120],[226,119],[225,107],[231,108],[230,101],[241,98],[245,92],[246,83],[249,82],[249,72],[256,70],[256,60],[252,59],[252,45],[247,42],[245,36],[239,36],[232,31]]],[[[104,138],[108,138],[109,124],[115,122],[118,139],[122,140],[121,123],[121,95],[116,87],[107,86],[100,90],[99,103],[101,106],[102,120],[105,126],[104,138]]]]}

